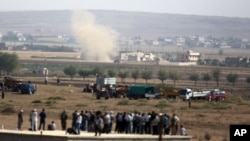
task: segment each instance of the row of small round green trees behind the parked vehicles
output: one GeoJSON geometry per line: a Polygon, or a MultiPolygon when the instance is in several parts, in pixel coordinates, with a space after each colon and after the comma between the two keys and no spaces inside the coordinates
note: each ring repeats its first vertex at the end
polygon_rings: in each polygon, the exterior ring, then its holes
{"type": "MultiPolygon", "coordinates": [[[[83,70],[83,69],[77,70],[77,68],[70,65],[70,66],[65,67],[63,71],[66,75],[70,76],[71,80],[74,78],[74,76],[77,73],[79,76],[83,77],[84,80],[86,77],[88,77],[90,75],[95,75],[96,77],[98,77],[98,76],[106,77],[104,70],[102,70],[99,67],[95,67],[92,70],[83,70]]],[[[107,71],[107,76],[109,76],[109,77],[118,76],[119,78],[121,78],[121,82],[123,82],[123,83],[125,83],[125,79],[128,77],[133,78],[135,83],[136,83],[136,80],[139,78],[144,79],[145,83],[147,83],[148,80],[152,79],[153,71],[149,70],[149,69],[144,69],[142,71],[135,69],[132,71],[116,72],[113,69],[109,69],[107,71]]],[[[206,86],[207,86],[208,81],[213,79],[216,82],[217,87],[219,87],[220,77],[221,77],[221,69],[220,68],[213,69],[211,71],[211,73],[204,73],[202,75],[199,73],[191,73],[189,75],[189,79],[191,81],[194,81],[195,86],[199,80],[205,81],[206,86]]],[[[173,80],[174,86],[175,86],[176,81],[178,81],[180,79],[180,75],[176,71],[166,72],[165,70],[161,69],[157,72],[157,78],[161,81],[162,84],[164,83],[165,80],[171,79],[171,80],[173,80]]],[[[237,82],[238,78],[239,78],[239,75],[236,73],[227,74],[227,81],[232,83],[232,86],[235,86],[235,83],[237,82]]],[[[246,82],[250,83],[250,76],[246,78],[246,82]]]]}

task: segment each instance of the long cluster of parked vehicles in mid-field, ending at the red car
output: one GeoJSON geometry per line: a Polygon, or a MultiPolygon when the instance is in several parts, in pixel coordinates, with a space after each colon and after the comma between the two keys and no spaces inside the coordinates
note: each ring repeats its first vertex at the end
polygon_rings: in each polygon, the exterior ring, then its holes
{"type": "Polygon", "coordinates": [[[96,83],[88,83],[83,88],[83,92],[91,92],[96,95],[96,99],[104,97],[109,99],[111,97],[120,98],[127,97],[129,99],[205,99],[208,101],[224,100],[227,98],[225,91],[219,89],[207,89],[202,91],[195,91],[191,88],[176,89],[161,87],[156,92],[155,86],[152,85],[117,85],[115,78],[96,78],[96,83]]]}

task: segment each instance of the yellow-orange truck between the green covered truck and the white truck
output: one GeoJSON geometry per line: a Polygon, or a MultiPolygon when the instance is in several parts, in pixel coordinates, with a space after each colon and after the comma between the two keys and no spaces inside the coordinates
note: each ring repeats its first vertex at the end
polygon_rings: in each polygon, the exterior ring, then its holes
{"type": "Polygon", "coordinates": [[[176,99],[179,96],[179,89],[160,88],[161,97],[166,99],[176,99]]]}

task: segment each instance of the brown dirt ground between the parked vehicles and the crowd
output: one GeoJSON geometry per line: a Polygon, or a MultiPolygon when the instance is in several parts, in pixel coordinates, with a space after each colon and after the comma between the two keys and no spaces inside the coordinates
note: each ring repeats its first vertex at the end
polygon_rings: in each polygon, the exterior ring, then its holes
{"type": "MultiPolygon", "coordinates": [[[[43,78],[36,78],[43,82],[43,78]]],[[[31,80],[32,81],[32,80],[31,80]]],[[[241,96],[230,95],[230,98],[221,102],[207,102],[204,100],[192,101],[191,109],[188,102],[166,99],[128,100],[127,98],[111,98],[109,100],[96,100],[90,93],[83,93],[82,87],[74,83],[63,82],[63,86],[54,85],[51,79],[48,85],[36,84],[38,91],[34,95],[6,92],[5,98],[0,99],[0,124],[5,129],[15,130],[17,127],[17,113],[24,110],[23,129],[30,127],[29,114],[34,108],[40,112],[42,108],[47,112],[47,124],[54,120],[57,129],[61,129],[59,114],[63,109],[69,114],[74,110],[101,110],[101,111],[141,111],[161,112],[172,115],[177,111],[180,124],[186,127],[187,133],[192,136],[192,141],[204,141],[205,134],[209,134],[213,141],[229,141],[230,124],[249,124],[250,101],[241,96]],[[37,102],[39,101],[39,102],[37,102]],[[124,102],[125,101],[125,102],[124,102]],[[158,108],[156,105],[164,101],[166,106],[158,108]],[[126,104],[121,104],[126,103],[126,104]]],[[[249,91],[242,91],[249,94],[249,91]]],[[[71,120],[68,120],[68,125],[71,120]]]]}

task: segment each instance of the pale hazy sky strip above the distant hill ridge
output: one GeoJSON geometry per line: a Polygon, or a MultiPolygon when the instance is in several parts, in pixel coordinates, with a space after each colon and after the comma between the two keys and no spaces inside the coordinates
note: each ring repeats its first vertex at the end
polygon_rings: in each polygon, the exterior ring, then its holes
{"type": "Polygon", "coordinates": [[[102,9],[250,18],[250,0],[0,0],[0,11],[102,9]]]}

